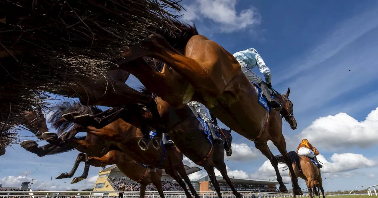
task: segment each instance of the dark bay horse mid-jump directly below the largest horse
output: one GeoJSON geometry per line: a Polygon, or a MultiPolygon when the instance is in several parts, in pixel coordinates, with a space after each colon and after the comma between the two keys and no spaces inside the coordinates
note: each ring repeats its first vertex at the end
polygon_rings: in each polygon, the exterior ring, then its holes
{"type": "MultiPolygon", "coordinates": [[[[142,92],[148,91],[143,89],[142,92]]],[[[224,163],[223,149],[226,150],[227,156],[231,156],[232,154],[231,130],[219,129],[223,143],[211,144],[204,135],[203,124],[188,106],[185,105],[181,109],[175,109],[160,97],[156,97],[155,100],[163,124],[168,128],[170,139],[174,140],[178,149],[186,157],[194,161],[195,164],[204,167],[218,196],[221,198],[222,193],[220,192],[220,187],[214,173],[214,167],[221,172],[234,195],[237,198],[242,197],[242,194],[238,193],[232,185],[227,174],[226,164],[224,163]]],[[[145,115],[148,118],[149,114],[146,113],[145,115]]]]}

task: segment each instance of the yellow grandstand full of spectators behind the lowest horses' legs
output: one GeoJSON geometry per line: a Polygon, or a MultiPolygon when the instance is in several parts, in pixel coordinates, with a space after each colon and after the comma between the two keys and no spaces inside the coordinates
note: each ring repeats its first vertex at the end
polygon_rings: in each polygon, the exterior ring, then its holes
{"type": "MultiPolygon", "coordinates": [[[[195,173],[201,170],[199,167],[196,167],[196,166],[189,167],[189,166],[184,165],[184,167],[185,167],[187,175],[190,175],[192,173],[195,173]]],[[[167,183],[167,186],[172,187],[172,190],[175,190],[175,191],[177,189],[180,189],[177,191],[182,190],[181,187],[180,188],[178,187],[178,184],[176,182],[173,182],[174,179],[170,177],[164,170],[163,170],[163,177],[161,178],[161,180],[163,181],[163,186],[164,186],[164,183],[167,183]]],[[[113,165],[99,171],[94,190],[106,190],[106,191],[118,190],[118,187],[121,184],[126,184],[127,186],[130,186],[132,188],[130,190],[139,190],[137,188],[139,185],[136,184],[135,181],[126,177],[121,172],[121,170],[118,169],[116,165],[113,165]]],[[[192,185],[196,190],[199,190],[198,182],[194,181],[192,182],[192,185]]],[[[152,188],[152,187],[148,186],[148,188],[152,188]]],[[[150,189],[150,190],[155,190],[155,189],[150,189]]],[[[172,191],[172,190],[167,190],[167,191],[172,191]]],[[[96,195],[113,195],[113,193],[96,193],[96,195]]],[[[117,193],[114,193],[113,196],[116,196],[116,195],[118,196],[117,193]]]]}

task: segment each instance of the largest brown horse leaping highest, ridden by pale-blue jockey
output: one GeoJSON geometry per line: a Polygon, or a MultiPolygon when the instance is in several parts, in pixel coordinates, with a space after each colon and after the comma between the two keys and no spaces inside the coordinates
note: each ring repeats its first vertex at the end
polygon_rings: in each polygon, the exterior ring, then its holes
{"type": "MultiPolygon", "coordinates": [[[[120,69],[135,75],[150,91],[175,108],[183,107],[191,100],[203,103],[220,121],[235,130],[255,146],[271,162],[276,170],[280,191],[288,192],[279,174],[277,160],[266,142],[271,140],[285,158],[290,172],[291,160],[282,135],[282,117],[292,129],[297,123],[293,116],[293,104],[286,95],[276,94],[282,111],[270,112],[260,105],[256,87],[243,74],[238,61],[214,41],[198,35],[195,27],[177,24],[181,33],[174,37],[164,29],[142,41],[144,48],[132,47],[118,61],[120,69]],[[172,46],[175,46],[173,48],[172,46]],[[166,63],[161,72],[145,63],[149,56],[166,63]],[[133,62],[128,62],[134,60],[133,62]],[[127,64],[124,64],[127,63],[127,64]]],[[[292,178],[293,192],[302,195],[297,178],[292,178]]]]}

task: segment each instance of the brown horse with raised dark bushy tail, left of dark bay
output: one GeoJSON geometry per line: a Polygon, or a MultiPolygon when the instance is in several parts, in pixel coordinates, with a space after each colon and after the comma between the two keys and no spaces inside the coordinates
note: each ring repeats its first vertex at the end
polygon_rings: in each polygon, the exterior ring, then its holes
{"type": "MultiPolygon", "coordinates": [[[[52,117],[52,121],[53,126],[56,129],[59,129],[60,132],[68,129],[71,124],[70,121],[66,120],[65,118],[61,118],[63,112],[82,112],[84,114],[90,114],[91,112],[94,112],[95,114],[101,113],[101,109],[97,107],[84,106],[77,102],[74,102],[71,105],[70,103],[65,102],[61,105],[58,105],[58,107],[62,111],[56,111],[52,117]]],[[[115,145],[127,156],[141,164],[165,169],[166,173],[171,175],[172,178],[174,178],[184,189],[187,197],[191,197],[191,195],[186,189],[185,183],[189,186],[192,194],[195,195],[195,197],[199,198],[197,192],[191,184],[191,181],[189,180],[189,177],[186,174],[184,164],[182,162],[183,153],[181,153],[180,150],[177,149],[177,147],[173,146],[166,148],[164,146],[161,146],[158,150],[141,149],[138,146],[139,140],[143,137],[141,130],[129,123],[126,123],[122,119],[118,119],[101,129],[96,129],[95,127],[91,126],[83,127],[75,124],[74,127],[70,129],[70,132],[67,132],[67,134],[65,134],[71,137],[67,138],[67,140],[74,138],[73,134],[77,134],[78,132],[87,132],[87,134],[92,134],[105,140],[107,144],[115,145]],[[181,180],[180,176],[184,179],[185,183],[181,180]]],[[[43,135],[45,135],[46,137],[50,136],[50,134],[43,135]]],[[[57,141],[59,141],[59,139],[57,141]]],[[[98,147],[98,149],[101,148],[98,147]]]]}

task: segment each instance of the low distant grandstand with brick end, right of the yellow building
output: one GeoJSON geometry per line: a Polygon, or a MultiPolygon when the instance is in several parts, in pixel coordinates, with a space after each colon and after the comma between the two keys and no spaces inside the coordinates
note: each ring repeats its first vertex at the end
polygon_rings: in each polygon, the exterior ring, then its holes
{"type": "MultiPolygon", "coordinates": [[[[223,180],[223,177],[216,176],[216,178],[218,180],[221,191],[231,191],[231,188],[228,186],[226,181],[223,180]]],[[[237,191],[278,192],[276,185],[279,183],[276,180],[251,180],[241,178],[230,178],[230,180],[237,191]]],[[[205,176],[197,180],[197,182],[199,182],[200,192],[215,191],[209,176],[205,176]]]]}

